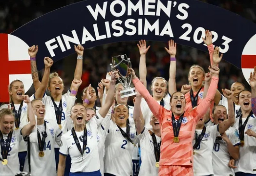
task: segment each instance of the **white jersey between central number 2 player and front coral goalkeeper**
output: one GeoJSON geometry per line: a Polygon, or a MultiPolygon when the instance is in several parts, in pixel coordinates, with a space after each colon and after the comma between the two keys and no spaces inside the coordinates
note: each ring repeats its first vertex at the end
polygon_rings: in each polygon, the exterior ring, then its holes
{"type": "MultiPolygon", "coordinates": [[[[156,136],[156,135],[155,135],[156,136]]],[[[143,131],[137,136],[140,139],[141,165],[139,176],[144,175],[158,175],[158,168],[156,167],[156,157],[154,152],[153,139],[144,127],[143,131]]],[[[156,136],[157,145],[160,145],[161,138],[156,136]]]]}

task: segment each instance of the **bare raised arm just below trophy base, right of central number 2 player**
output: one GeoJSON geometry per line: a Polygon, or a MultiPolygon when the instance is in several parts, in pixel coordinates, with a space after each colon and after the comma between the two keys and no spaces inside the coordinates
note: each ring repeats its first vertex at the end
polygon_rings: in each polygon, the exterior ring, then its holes
{"type": "Polygon", "coordinates": [[[137,92],[135,102],[134,102],[134,109],[133,109],[133,120],[135,124],[135,129],[138,134],[140,134],[144,129],[144,122],[142,121],[143,117],[141,113],[140,103],[141,103],[141,95],[137,92]]]}

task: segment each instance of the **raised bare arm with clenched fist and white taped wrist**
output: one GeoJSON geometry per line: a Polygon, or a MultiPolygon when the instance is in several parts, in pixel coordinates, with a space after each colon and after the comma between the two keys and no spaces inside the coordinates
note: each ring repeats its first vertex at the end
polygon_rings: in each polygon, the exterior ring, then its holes
{"type": "MultiPolygon", "coordinates": [[[[81,45],[75,45],[75,51],[77,53],[77,61],[76,61],[76,69],[75,69],[75,75],[74,80],[76,83],[78,83],[78,80],[82,77],[83,72],[83,54],[84,54],[84,47],[81,45]]],[[[70,90],[72,89],[72,85],[70,87],[70,90]]]]}

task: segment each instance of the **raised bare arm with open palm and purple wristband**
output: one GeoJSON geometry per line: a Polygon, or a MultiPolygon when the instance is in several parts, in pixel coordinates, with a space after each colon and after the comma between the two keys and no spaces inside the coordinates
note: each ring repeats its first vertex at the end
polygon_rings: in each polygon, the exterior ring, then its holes
{"type": "Polygon", "coordinates": [[[177,47],[174,40],[168,41],[169,49],[164,48],[170,54],[170,68],[169,68],[169,81],[168,81],[168,92],[172,95],[177,91],[176,88],[176,52],[177,47]]]}

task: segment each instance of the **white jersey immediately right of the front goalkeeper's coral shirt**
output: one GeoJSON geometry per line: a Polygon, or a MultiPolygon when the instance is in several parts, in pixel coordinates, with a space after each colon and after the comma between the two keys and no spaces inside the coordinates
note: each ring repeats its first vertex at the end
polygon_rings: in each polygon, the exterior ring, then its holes
{"type": "MultiPolygon", "coordinates": [[[[201,132],[202,132],[202,129],[200,130],[196,129],[197,135],[201,134],[201,132]]],[[[213,148],[216,136],[218,135],[220,135],[219,125],[206,127],[204,138],[202,139],[200,145],[198,145],[194,149],[195,155],[194,155],[193,170],[194,170],[195,176],[213,174],[212,148],[213,148]]],[[[195,144],[195,135],[192,142],[192,146],[194,144],[195,144]]]]}

